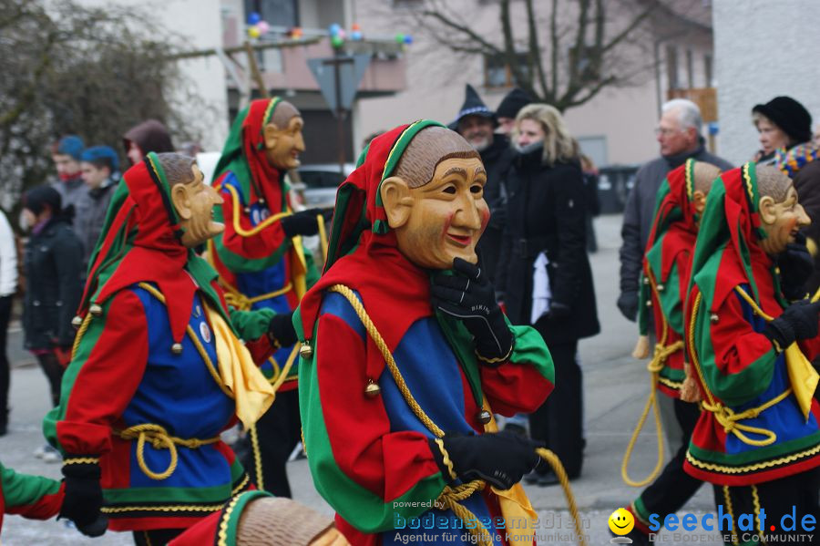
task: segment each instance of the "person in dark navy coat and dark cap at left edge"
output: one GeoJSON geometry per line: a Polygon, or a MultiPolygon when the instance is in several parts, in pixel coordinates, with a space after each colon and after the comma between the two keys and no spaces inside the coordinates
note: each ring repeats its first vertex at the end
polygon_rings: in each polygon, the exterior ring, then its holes
{"type": "Polygon", "coordinates": [[[51,186],[26,191],[23,215],[31,229],[24,253],[25,345],[43,368],[56,406],[74,343],[71,319],[82,292],[83,246],[71,229],[70,211],[63,210],[62,198],[51,186]]]}

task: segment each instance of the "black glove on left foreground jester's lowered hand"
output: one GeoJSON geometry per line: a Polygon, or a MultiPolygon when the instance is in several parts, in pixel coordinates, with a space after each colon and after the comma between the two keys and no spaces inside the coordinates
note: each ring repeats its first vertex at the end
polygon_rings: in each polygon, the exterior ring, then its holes
{"type": "Polygon", "coordinates": [[[91,462],[71,463],[87,456],[67,455],[63,462],[66,496],[59,518],[73,520],[77,530],[89,537],[98,537],[108,528],[108,518],[100,512],[102,487],[99,485],[99,465],[91,462]]]}

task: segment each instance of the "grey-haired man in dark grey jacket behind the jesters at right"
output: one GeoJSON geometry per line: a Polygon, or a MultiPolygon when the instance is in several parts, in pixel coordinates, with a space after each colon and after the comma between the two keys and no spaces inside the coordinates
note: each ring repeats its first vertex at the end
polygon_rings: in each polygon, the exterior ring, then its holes
{"type": "Polygon", "coordinates": [[[712,163],[721,170],[732,164],[703,148],[702,119],[698,105],[685,98],[673,98],[661,107],[661,121],[655,129],[661,145],[661,157],[644,163],[635,175],[620,236],[620,313],[634,322],[638,314],[638,282],[643,251],[649,239],[655,196],[666,173],[680,167],[689,158],[712,163]]]}

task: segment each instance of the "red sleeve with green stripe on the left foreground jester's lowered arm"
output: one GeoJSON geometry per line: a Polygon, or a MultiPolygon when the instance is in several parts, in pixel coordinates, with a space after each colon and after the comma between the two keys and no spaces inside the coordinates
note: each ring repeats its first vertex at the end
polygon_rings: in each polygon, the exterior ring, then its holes
{"type": "Polygon", "coordinates": [[[103,316],[91,322],[66,371],[75,377],[56,431],[67,453],[100,455],[110,450],[111,428],[128,407],[148,363],[148,323],[137,294],[120,291],[103,316]]]}

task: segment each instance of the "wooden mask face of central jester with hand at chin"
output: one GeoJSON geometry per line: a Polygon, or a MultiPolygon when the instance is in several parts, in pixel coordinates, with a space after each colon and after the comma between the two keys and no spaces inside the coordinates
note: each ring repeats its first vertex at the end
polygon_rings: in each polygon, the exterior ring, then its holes
{"type": "Polygon", "coordinates": [[[485,183],[477,158],[441,161],[418,188],[395,176],[384,180],[384,211],[399,251],[426,269],[451,269],[455,258],[477,263],[476,244],[489,220],[485,183]]]}

